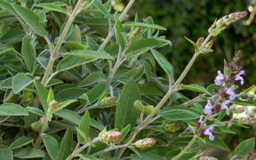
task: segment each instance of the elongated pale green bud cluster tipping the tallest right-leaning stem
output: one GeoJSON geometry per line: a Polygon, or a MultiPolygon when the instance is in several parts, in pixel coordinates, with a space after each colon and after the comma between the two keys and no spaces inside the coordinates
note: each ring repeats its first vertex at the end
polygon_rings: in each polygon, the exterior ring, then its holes
{"type": "Polygon", "coordinates": [[[242,19],[247,15],[247,12],[234,12],[229,15],[223,16],[221,19],[215,20],[214,24],[212,24],[211,28],[209,28],[209,33],[212,36],[218,35],[222,30],[226,29],[228,25],[236,22],[237,20],[242,19]]]}

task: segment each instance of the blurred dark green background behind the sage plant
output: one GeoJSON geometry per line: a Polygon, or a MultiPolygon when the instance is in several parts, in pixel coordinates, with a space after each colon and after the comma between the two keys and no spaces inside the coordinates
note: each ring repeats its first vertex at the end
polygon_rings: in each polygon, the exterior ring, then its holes
{"type": "MultiPolygon", "coordinates": [[[[120,0],[119,2],[127,4],[129,1],[120,0]]],[[[166,46],[159,51],[172,63],[177,79],[194,53],[193,47],[184,36],[196,42],[198,37],[208,35],[207,30],[216,18],[236,11],[248,11],[250,5],[252,5],[252,1],[241,0],[137,0],[129,11],[129,15],[130,19],[134,19],[135,14],[138,13],[140,22],[143,18],[151,16],[156,24],[167,29],[167,31],[162,31],[161,35],[165,35],[168,40],[171,40],[173,47],[166,46]]],[[[202,86],[213,83],[217,70],[223,70],[223,60],[231,61],[234,52],[241,49],[243,56],[239,65],[242,65],[246,71],[245,84],[242,88],[248,88],[255,84],[256,19],[250,26],[243,24],[249,15],[250,13],[243,20],[231,24],[220,35],[212,38],[214,52],[199,56],[183,83],[197,83],[202,86]]],[[[158,74],[164,76],[164,72],[160,68],[158,74]]],[[[218,159],[229,159],[234,155],[234,148],[241,141],[255,136],[255,126],[248,127],[250,129],[232,126],[231,129],[237,134],[221,135],[221,139],[228,145],[230,152],[208,146],[205,155],[218,159]]]]}

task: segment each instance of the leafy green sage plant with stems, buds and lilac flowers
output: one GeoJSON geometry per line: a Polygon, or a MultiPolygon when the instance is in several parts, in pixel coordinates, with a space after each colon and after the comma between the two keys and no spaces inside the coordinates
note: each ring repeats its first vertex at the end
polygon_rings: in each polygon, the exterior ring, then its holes
{"type": "MultiPolygon", "coordinates": [[[[195,54],[176,77],[157,51],[172,47],[166,29],[150,16],[128,22],[134,2],[118,12],[111,0],[0,0],[0,159],[214,159],[198,143],[229,152],[220,134],[256,123],[232,116],[245,109],[231,105],[256,106],[244,100],[253,86],[236,91],[249,74],[238,65],[243,51],[206,88],[182,84],[198,56],[214,54],[212,36],[247,12],[186,38],[195,54]]],[[[255,158],[254,144],[244,140],[231,159],[255,158]]]]}

